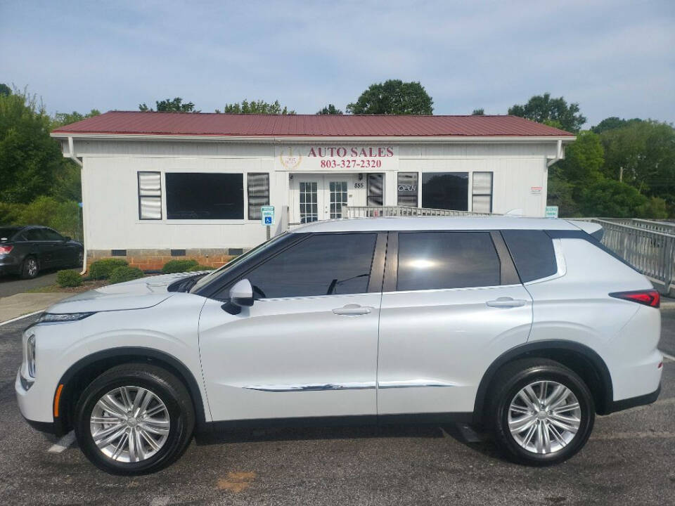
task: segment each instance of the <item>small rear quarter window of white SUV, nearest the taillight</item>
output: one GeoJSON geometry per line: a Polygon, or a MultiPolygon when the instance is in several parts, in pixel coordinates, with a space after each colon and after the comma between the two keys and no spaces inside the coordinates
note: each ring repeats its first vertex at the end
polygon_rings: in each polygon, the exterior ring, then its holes
{"type": "Polygon", "coordinates": [[[508,251],[518,269],[520,280],[527,283],[558,272],[553,241],[544,231],[501,231],[508,251]]]}

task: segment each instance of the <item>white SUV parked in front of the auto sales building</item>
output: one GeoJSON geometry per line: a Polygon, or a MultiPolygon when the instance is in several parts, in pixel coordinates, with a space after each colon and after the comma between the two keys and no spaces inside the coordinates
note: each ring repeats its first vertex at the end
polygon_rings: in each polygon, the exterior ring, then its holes
{"type": "Polygon", "coordinates": [[[25,330],[20,410],[118,474],[195,429],[335,422],[481,424],[513,460],[560,462],[596,413],[660,391],[659,294],[597,231],[326,221],[209,274],[79,294],[25,330]]]}

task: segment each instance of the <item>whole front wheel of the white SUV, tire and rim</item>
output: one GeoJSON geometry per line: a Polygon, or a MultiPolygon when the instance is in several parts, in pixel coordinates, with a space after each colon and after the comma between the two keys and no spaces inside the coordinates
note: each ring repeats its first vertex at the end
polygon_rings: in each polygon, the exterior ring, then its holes
{"type": "Polygon", "coordinates": [[[91,382],[75,407],[77,442],[96,467],[147,474],[187,448],[195,411],[184,384],[154,365],[118,365],[91,382]]]}

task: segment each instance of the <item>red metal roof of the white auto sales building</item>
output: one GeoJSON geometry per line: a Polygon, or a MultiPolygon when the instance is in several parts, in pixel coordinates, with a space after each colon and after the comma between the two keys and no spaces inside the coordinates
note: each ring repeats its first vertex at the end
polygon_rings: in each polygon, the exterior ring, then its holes
{"type": "Polygon", "coordinates": [[[53,134],[166,136],[574,136],[517,116],[226,115],[110,111],[53,134]]]}

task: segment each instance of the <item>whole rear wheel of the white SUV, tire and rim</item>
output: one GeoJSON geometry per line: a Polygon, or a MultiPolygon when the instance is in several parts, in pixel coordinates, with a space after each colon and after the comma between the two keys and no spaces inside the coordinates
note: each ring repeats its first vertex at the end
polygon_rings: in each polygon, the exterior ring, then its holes
{"type": "Polygon", "coordinates": [[[579,375],[544,358],[515,361],[496,375],[489,399],[494,440],[510,460],[552,465],[589,439],[595,404],[579,375]]]}

